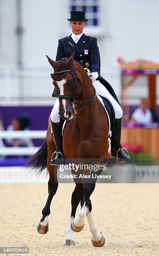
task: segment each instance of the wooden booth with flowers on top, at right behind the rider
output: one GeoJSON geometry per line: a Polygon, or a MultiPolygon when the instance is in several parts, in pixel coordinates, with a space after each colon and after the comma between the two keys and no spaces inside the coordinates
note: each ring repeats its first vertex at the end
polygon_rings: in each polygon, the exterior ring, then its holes
{"type": "MultiPolygon", "coordinates": [[[[121,68],[121,104],[125,106],[127,89],[141,76],[147,77],[149,107],[157,111],[157,75],[159,64],[150,62],[128,63],[122,62],[121,68]]],[[[142,97],[142,95],[141,95],[142,97]]],[[[124,108],[124,114],[130,115],[130,106],[124,108]]],[[[152,125],[153,126],[153,125],[152,125]]],[[[157,126],[157,125],[156,125],[157,126]]],[[[144,152],[150,153],[154,158],[159,159],[159,128],[158,127],[136,127],[122,129],[122,143],[131,145],[139,143],[144,152]]]]}

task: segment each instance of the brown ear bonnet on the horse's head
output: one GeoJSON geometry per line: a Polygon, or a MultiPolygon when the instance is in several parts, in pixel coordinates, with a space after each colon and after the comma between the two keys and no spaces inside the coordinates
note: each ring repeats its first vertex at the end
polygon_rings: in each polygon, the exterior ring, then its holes
{"type": "Polygon", "coordinates": [[[66,76],[66,74],[72,72],[74,55],[75,55],[75,51],[73,52],[73,54],[70,56],[69,59],[67,60],[60,59],[59,61],[53,61],[52,59],[49,58],[49,56],[46,55],[49,63],[54,69],[54,73],[51,74],[52,79],[54,79],[55,81],[60,81],[62,80],[62,78],[66,76]]]}

